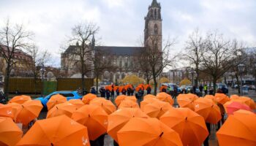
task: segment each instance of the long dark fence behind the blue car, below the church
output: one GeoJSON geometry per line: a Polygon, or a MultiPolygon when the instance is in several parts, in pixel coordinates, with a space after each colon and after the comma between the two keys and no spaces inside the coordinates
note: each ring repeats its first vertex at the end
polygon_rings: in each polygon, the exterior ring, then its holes
{"type": "MultiPolygon", "coordinates": [[[[34,82],[34,78],[10,78],[9,93],[41,93],[42,92],[42,81],[37,80],[34,82]]],[[[84,82],[87,91],[90,90],[91,86],[94,85],[93,79],[85,79],[84,82]]],[[[69,79],[61,78],[57,81],[44,81],[43,82],[43,93],[47,95],[53,91],[75,91],[82,87],[81,79],[69,79]]]]}

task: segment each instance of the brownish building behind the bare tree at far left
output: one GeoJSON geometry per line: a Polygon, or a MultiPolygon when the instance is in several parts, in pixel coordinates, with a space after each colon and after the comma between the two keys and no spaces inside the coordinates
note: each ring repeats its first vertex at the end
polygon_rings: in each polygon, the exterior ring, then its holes
{"type": "MultiPolygon", "coordinates": [[[[7,53],[7,47],[1,45],[1,49],[7,53]]],[[[31,66],[34,65],[33,58],[23,50],[16,49],[14,51],[13,65],[11,66],[11,77],[31,77],[33,72],[31,66]]],[[[7,62],[0,56],[0,81],[4,81],[4,74],[6,73],[7,62]],[[2,75],[1,75],[2,74],[2,75]]]]}

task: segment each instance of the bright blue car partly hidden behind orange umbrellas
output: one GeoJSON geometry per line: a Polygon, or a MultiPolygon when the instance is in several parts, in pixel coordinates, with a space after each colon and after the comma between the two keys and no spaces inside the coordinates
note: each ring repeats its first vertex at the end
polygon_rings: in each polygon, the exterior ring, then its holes
{"type": "Polygon", "coordinates": [[[35,100],[41,101],[42,106],[47,109],[47,102],[49,101],[51,96],[54,96],[56,94],[61,94],[61,96],[66,97],[67,101],[69,101],[70,99],[82,99],[82,95],[80,95],[78,91],[55,91],[53,93],[50,93],[48,96],[39,97],[35,100]]]}

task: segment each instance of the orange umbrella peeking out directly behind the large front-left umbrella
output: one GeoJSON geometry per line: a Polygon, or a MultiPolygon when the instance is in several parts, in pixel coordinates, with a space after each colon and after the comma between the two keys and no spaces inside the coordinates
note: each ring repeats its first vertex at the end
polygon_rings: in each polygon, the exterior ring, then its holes
{"type": "Polygon", "coordinates": [[[62,104],[56,104],[53,108],[51,108],[47,112],[46,118],[52,118],[59,115],[67,115],[67,117],[71,118],[72,113],[75,112],[77,108],[74,104],[71,104],[69,102],[65,102],[62,104]]]}

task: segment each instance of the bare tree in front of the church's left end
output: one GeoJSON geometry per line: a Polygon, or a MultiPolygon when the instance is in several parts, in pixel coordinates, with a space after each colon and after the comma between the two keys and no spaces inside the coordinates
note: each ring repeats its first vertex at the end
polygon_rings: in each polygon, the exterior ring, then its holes
{"type": "Polygon", "coordinates": [[[80,66],[82,78],[82,89],[84,90],[84,76],[86,72],[91,72],[92,49],[91,42],[94,34],[99,31],[99,27],[93,23],[80,23],[72,28],[72,37],[70,43],[76,43],[75,50],[72,50],[72,60],[80,66]]]}

